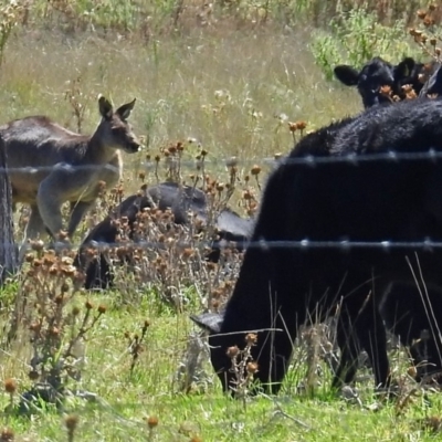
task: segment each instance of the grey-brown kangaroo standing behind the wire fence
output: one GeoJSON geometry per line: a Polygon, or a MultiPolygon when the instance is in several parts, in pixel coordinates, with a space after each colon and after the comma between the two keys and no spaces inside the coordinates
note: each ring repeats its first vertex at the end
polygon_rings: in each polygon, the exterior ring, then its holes
{"type": "Polygon", "coordinates": [[[45,116],[25,117],[0,127],[14,208],[17,202],[31,206],[20,261],[29,239],[46,233],[56,238],[63,230],[64,202],[71,206],[66,232],[72,238],[95,203],[103,182],[107,188],[117,183],[123,169],[118,149],[128,154],[140,149],[127,123],[134,105],[135,99],[114,110],[109,101],[99,95],[102,120],[91,136],[70,131],[45,116]]]}

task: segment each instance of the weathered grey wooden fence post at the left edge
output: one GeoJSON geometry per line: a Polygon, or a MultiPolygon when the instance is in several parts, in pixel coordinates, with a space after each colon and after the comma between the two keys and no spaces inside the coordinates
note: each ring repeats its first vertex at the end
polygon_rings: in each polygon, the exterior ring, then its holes
{"type": "Polygon", "coordinates": [[[18,250],[13,238],[12,191],[7,169],[4,141],[0,137],[0,285],[18,265],[18,250]]]}

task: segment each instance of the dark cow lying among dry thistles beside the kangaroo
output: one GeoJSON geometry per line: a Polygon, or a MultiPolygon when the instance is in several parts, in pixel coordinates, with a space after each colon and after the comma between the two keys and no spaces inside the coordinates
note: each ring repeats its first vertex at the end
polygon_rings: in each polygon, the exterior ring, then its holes
{"type": "MultiPolygon", "coordinates": [[[[162,182],[150,187],[144,196],[134,194],[126,198],[108,217],[97,224],[83,241],[78,253],[74,260],[74,265],[86,273],[85,288],[108,288],[113,284],[112,265],[106,254],[99,253],[94,260],[86,256],[86,250],[93,242],[113,244],[117,240],[118,228],[114,221],[123,217],[127,218],[129,225],[129,238],[133,236],[134,223],[137,213],[146,208],[158,208],[165,211],[170,209],[173,221],[177,224],[188,224],[188,211],[193,212],[197,220],[207,223],[208,201],[204,192],[199,189],[175,182],[162,182]]],[[[220,249],[225,242],[236,242],[236,249],[245,246],[248,236],[252,231],[251,219],[243,219],[238,213],[229,209],[223,209],[217,220],[215,228],[219,239],[211,244],[211,251],[207,259],[218,262],[220,249]]]]}

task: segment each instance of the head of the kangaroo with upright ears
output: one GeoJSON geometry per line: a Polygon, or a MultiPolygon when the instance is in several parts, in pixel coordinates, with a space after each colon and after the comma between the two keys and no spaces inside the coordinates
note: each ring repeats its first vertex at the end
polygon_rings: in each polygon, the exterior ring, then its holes
{"type": "Polygon", "coordinates": [[[141,144],[133,133],[127,118],[135,106],[134,98],[131,102],[119,106],[114,110],[112,103],[103,95],[98,96],[98,108],[102,115],[102,123],[98,126],[99,135],[103,144],[116,149],[123,149],[128,154],[140,150],[141,144]]]}

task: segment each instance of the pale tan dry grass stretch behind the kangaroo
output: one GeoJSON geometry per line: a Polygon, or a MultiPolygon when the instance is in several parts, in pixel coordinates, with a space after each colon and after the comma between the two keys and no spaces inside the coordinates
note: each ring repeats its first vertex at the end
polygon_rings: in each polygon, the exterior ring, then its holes
{"type": "MultiPolygon", "coordinates": [[[[30,39],[22,34],[6,52],[0,98],[9,105],[2,120],[46,114],[74,129],[64,94],[66,82],[80,76],[87,106],[84,130],[97,123],[99,92],[116,104],[136,96],[134,126],[149,137],[152,154],[191,137],[211,160],[256,161],[291,148],[287,120],[305,119],[309,129],[360,109],[356,92],[323,81],[307,36],[298,33],[196,31],[179,40],[162,38],[155,48],[93,35],[65,42],[50,34],[30,39]]],[[[127,180],[137,176],[143,157],[128,164],[127,180]]]]}

